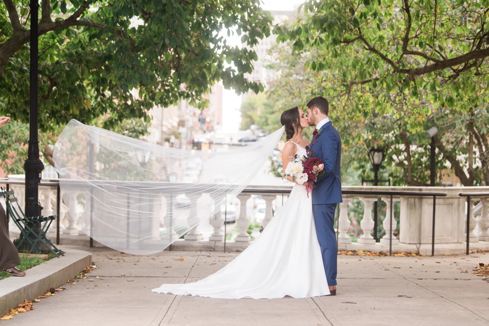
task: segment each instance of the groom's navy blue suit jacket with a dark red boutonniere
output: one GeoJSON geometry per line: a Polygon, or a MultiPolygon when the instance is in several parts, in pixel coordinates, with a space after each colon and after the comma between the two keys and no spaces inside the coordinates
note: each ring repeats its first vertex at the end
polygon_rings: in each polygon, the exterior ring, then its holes
{"type": "Polygon", "coordinates": [[[320,129],[319,136],[309,146],[312,157],[320,158],[324,163],[325,173],[315,182],[312,189],[312,204],[336,204],[342,202],[341,197],[341,138],[336,129],[328,121],[320,129]]]}

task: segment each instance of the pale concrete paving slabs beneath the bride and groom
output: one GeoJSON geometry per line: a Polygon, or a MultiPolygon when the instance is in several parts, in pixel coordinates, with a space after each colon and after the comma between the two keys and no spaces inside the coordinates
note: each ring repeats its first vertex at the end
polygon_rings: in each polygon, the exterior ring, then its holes
{"type": "MultiPolygon", "coordinates": [[[[92,252],[98,269],[65,284],[3,325],[488,325],[489,282],[472,274],[489,253],[435,257],[338,257],[335,297],[224,300],[152,293],[202,279],[238,253],[92,252]],[[464,272],[468,271],[468,272],[464,272]],[[96,278],[96,277],[99,278],[96,278]]],[[[236,275],[236,277],[240,277],[236,275]]],[[[1,286],[1,284],[0,284],[1,286]]]]}

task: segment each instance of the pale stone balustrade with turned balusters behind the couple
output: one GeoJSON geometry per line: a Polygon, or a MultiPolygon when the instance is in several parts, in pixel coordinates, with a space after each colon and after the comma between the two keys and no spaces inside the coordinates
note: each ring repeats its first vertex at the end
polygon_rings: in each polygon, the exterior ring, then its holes
{"type": "MultiPolygon", "coordinates": [[[[3,183],[7,182],[9,181],[3,181],[3,183]]],[[[10,180],[10,182],[10,187],[15,191],[23,206],[24,185],[18,180],[10,180]]],[[[227,250],[244,250],[252,241],[252,236],[248,234],[248,226],[250,222],[254,221],[253,211],[248,201],[261,197],[265,202],[266,209],[262,227],[266,228],[267,223],[273,218],[274,211],[279,209],[287,199],[290,190],[290,186],[248,186],[237,197],[239,209],[236,212],[237,218],[234,224],[236,225],[235,234],[231,240],[225,240],[225,217],[221,210],[218,210],[209,219],[209,223],[201,221],[183,239],[177,240],[172,248],[176,250],[199,250],[199,248],[200,250],[221,250],[226,241],[227,250]]],[[[389,252],[391,249],[393,252],[408,251],[429,255],[432,250],[433,197],[416,194],[420,192],[446,193],[446,196],[436,198],[435,254],[456,254],[465,253],[467,232],[467,203],[466,199],[460,197],[459,194],[461,192],[489,192],[489,187],[345,186],[343,192],[343,202],[338,205],[337,209],[338,250],[389,252]],[[394,194],[365,194],[369,191],[394,194]],[[395,194],[398,192],[407,193],[395,194]],[[375,201],[379,203],[377,223],[373,219],[375,214],[372,212],[375,201]],[[360,217],[361,220],[357,223],[360,217]],[[380,235],[377,240],[373,237],[372,232],[375,224],[377,224],[380,235]]],[[[43,214],[54,213],[59,218],[59,230],[53,223],[49,230],[50,237],[55,238],[56,232],[59,232],[62,244],[87,244],[89,238],[86,234],[90,234],[90,225],[81,222],[79,217],[90,211],[90,194],[83,189],[61,193],[62,204],[59,212],[56,211],[56,186],[43,186],[41,183],[39,195],[43,205],[43,214]]],[[[169,194],[162,193],[162,196],[169,196],[169,194]]],[[[185,197],[185,193],[180,196],[185,197]]],[[[214,204],[213,202],[210,196],[199,198],[199,200],[194,199],[188,204],[187,207],[191,207],[188,211],[197,211],[198,205],[210,205],[214,204]]],[[[474,197],[471,203],[474,205],[471,209],[470,229],[468,230],[471,251],[489,250],[489,197],[474,197]]],[[[161,212],[163,217],[160,221],[155,221],[152,226],[144,226],[146,229],[151,228],[154,237],[159,236],[161,224],[170,223],[171,214],[178,212],[177,207],[165,207],[164,204],[161,206],[153,207],[161,212]]],[[[182,212],[185,213],[185,211],[180,211],[182,212]]],[[[195,216],[190,215],[187,216],[189,224],[190,220],[195,219],[195,216]]],[[[15,233],[13,224],[10,231],[15,233]]],[[[259,233],[254,236],[259,236],[259,233]]]]}

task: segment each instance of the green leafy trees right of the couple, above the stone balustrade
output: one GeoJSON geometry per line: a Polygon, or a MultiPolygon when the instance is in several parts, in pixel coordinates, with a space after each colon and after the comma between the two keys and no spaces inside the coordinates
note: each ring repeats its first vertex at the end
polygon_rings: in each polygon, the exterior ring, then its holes
{"type": "Polygon", "coordinates": [[[426,185],[424,130],[437,126],[439,168],[464,185],[489,184],[488,4],[307,1],[293,27],[276,29],[305,60],[289,66],[308,82],[292,92],[330,100],[347,157],[364,172],[367,149],[384,145],[396,183],[426,185]]]}

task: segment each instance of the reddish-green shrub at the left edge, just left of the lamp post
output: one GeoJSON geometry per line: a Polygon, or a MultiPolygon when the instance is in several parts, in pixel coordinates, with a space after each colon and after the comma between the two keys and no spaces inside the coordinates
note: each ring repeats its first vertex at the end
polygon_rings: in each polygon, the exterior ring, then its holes
{"type": "Polygon", "coordinates": [[[28,143],[28,125],[11,120],[0,127],[0,167],[5,174],[24,173],[28,143]]]}

